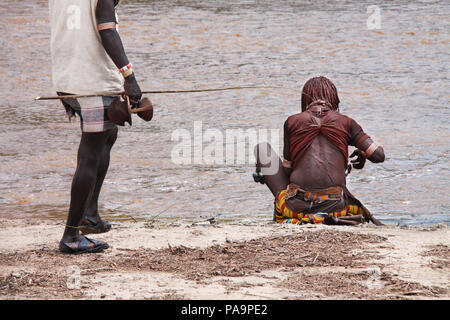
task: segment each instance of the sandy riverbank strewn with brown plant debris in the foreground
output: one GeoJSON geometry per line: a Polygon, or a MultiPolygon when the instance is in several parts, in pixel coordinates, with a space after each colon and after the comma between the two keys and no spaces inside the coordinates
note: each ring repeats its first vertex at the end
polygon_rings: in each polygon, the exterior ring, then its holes
{"type": "Polygon", "coordinates": [[[0,220],[0,299],[450,298],[445,224],[117,222],[92,235],[110,249],[78,256],[57,251],[62,229],[0,220]]]}

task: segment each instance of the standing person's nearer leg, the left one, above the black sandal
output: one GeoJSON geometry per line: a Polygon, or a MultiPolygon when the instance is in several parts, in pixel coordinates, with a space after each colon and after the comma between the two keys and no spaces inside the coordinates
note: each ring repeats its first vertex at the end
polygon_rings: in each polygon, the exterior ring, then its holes
{"type": "MultiPolygon", "coordinates": [[[[77,169],[75,171],[72,188],[67,225],[78,227],[83,215],[94,195],[99,176],[99,166],[102,154],[111,136],[111,131],[81,134],[78,148],[77,169]]],[[[62,242],[70,247],[77,248],[80,241],[80,232],[77,228],[66,227],[62,242]]]]}

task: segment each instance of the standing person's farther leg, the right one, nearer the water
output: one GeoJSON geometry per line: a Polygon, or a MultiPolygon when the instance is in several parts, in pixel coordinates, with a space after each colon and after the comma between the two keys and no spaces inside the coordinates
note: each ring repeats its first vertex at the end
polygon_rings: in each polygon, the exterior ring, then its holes
{"type": "MultiPolygon", "coordinates": [[[[108,172],[110,153],[117,139],[117,131],[117,128],[108,131],[109,136],[106,140],[106,144],[103,146],[103,150],[100,155],[94,191],[84,215],[85,217],[88,216],[93,218],[96,222],[100,221],[100,215],[98,214],[98,198],[103,185],[103,181],[105,180],[106,173],[108,172]]],[[[90,225],[91,222],[88,220],[83,220],[83,224],[90,225]]]]}

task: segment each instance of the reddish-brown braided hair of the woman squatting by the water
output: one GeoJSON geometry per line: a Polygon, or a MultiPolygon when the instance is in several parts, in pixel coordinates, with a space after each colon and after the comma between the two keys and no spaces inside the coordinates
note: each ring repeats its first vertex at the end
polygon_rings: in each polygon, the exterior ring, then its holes
{"type": "Polygon", "coordinates": [[[302,90],[302,111],[306,110],[312,102],[324,100],[331,104],[334,110],[339,109],[339,96],[333,82],[325,77],[309,79],[302,90]]]}

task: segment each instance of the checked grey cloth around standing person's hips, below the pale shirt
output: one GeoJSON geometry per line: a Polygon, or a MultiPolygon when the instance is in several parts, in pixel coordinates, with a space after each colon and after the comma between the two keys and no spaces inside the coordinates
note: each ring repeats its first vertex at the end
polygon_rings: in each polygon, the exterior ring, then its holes
{"type": "MultiPolygon", "coordinates": [[[[58,95],[64,96],[67,93],[58,92],[58,95]]],[[[69,120],[78,115],[82,132],[104,132],[114,129],[117,126],[108,118],[108,106],[115,97],[89,97],[79,99],[61,100],[69,120]]]]}

